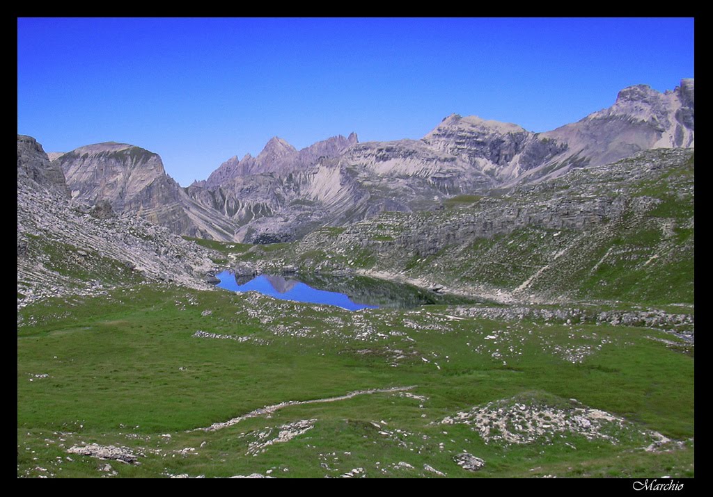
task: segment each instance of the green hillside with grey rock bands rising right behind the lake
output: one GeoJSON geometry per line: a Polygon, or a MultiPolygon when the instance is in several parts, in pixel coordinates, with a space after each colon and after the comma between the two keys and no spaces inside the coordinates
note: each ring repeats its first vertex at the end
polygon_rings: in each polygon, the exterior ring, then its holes
{"type": "Polygon", "coordinates": [[[319,229],[272,256],[503,302],[690,306],[693,185],[692,150],[650,150],[501,197],[319,229]]]}

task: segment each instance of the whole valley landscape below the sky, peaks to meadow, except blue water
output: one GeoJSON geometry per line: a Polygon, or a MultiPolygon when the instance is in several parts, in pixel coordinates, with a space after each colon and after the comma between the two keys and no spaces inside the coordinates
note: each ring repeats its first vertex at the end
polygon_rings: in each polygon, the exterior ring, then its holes
{"type": "Polygon", "coordinates": [[[275,138],[189,187],[18,135],[18,476],[694,476],[692,109],[275,138]]]}

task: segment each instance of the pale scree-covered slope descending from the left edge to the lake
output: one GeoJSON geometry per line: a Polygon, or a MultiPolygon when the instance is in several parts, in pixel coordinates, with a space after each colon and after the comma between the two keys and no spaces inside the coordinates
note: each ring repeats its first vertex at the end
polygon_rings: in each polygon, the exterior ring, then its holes
{"type": "Polygon", "coordinates": [[[128,282],[207,288],[210,251],[137,216],[116,215],[108,202],[69,199],[58,174],[34,139],[18,136],[19,305],[128,282]],[[24,171],[44,180],[30,181],[24,171]]]}

